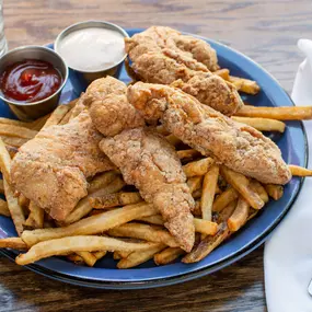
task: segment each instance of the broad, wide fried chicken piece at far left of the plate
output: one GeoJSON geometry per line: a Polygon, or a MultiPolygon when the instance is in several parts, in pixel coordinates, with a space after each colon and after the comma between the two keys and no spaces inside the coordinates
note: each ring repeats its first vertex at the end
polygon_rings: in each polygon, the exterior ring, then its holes
{"type": "Polygon", "coordinates": [[[115,167],[99,148],[102,138],[85,111],[66,125],[45,128],[12,161],[15,189],[63,220],[88,195],[86,177],[115,167]]]}

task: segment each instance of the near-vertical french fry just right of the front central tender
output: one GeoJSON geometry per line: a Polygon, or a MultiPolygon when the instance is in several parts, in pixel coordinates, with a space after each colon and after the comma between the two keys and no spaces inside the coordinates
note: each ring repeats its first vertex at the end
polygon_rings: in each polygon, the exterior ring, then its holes
{"type": "Polygon", "coordinates": [[[211,221],[212,203],[218,184],[219,166],[213,165],[205,174],[203,181],[203,193],[200,199],[201,216],[204,220],[211,221]]]}

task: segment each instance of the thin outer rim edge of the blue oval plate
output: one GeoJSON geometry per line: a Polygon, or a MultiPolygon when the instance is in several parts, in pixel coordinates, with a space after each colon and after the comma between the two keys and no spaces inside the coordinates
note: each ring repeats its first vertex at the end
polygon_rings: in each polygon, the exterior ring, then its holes
{"type": "MultiPolygon", "coordinates": [[[[139,32],[142,30],[139,28],[131,28],[131,30],[127,30],[130,32],[139,32]]],[[[254,60],[252,60],[250,57],[243,55],[242,53],[212,39],[209,38],[205,38],[203,36],[197,36],[194,35],[198,38],[201,38],[204,41],[209,41],[210,43],[215,43],[216,45],[221,46],[222,48],[232,50],[233,53],[240,55],[243,58],[246,58],[250,62],[254,63],[254,66],[258,67],[262,71],[264,71],[266,74],[268,74],[270,77],[270,79],[273,79],[275,81],[275,83],[280,88],[280,90],[285,93],[285,95],[287,95],[287,97],[289,99],[290,103],[292,105],[293,102],[290,99],[289,94],[284,90],[284,88],[279,84],[279,82],[268,72],[266,71],[262,66],[259,66],[257,62],[255,62],[254,60]]],[[[304,124],[302,122],[299,123],[301,129],[302,129],[302,134],[303,134],[303,139],[304,139],[304,166],[307,166],[308,164],[308,158],[309,158],[309,150],[308,150],[308,139],[307,139],[307,132],[305,132],[305,127],[304,124]]],[[[285,210],[282,212],[282,215],[279,217],[279,219],[276,219],[275,222],[271,224],[270,228],[268,228],[265,232],[263,232],[255,241],[253,241],[252,243],[247,244],[246,246],[242,247],[239,252],[236,252],[235,254],[233,254],[232,256],[229,255],[229,257],[226,257],[223,261],[219,262],[218,264],[211,265],[207,268],[200,268],[197,270],[194,270],[192,273],[186,273],[186,274],[182,274],[178,276],[173,276],[173,277],[166,277],[166,278],[155,278],[153,280],[141,280],[141,281],[102,281],[102,280],[92,280],[90,281],[89,279],[84,279],[84,278],[77,278],[77,277],[68,277],[68,275],[66,274],[61,274],[61,273],[56,273],[55,270],[50,270],[47,268],[43,268],[41,265],[37,264],[32,264],[28,266],[25,266],[26,268],[33,270],[33,271],[37,271],[44,276],[50,277],[53,279],[56,280],[61,280],[65,282],[69,282],[69,284],[73,284],[73,285],[80,285],[80,286],[85,286],[85,287],[95,287],[95,288],[105,288],[105,289],[140,289],[140,288],[152,288],[152,287],[161,287],[161,286],[165,286],[165,285],[173,285],[173,284],[177,284],[177,282],[182,282],[182,281],[186,281],[186,280],[190,280],[197,277],[201,277],[204,275],[207,274],[211,274],[216,270],[219,270],[232,263],[234,263],[235,261],[242,258],[243,256],[245,256],[246,254],[249,254],[250,252],[252,252],[253,250],[255,250],[257,246],[259,246],[267,238],[268,235],[271,233],[271,231],[280,223],[280,221],[285,218],[285,216],[288,213],[288,211],[290,210],[291,206],[293,205],[293,203],[296,201],[298,195],[301,192],[302,188],[302,183],[303,183],[303,178],[300,180],[299,183],[299,187],[297,190],[297,194],[294,195],[294,197],[292,198],[292,200],[287,205],[287,207],[285,207],[285,210]]],[[[14,259],[15,254],[13,252],[10,251],[0,251],[2,254],[4,254],[5,256],[8,256],[11,259],[14,259]]]]}

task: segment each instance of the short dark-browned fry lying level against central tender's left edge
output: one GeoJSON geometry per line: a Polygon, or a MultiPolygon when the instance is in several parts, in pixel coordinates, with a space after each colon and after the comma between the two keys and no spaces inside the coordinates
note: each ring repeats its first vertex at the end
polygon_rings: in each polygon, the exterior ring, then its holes
{"type": "Polygon", "coordinates": [[[89,204],[96,209],[113,208],[142,201],[139,192],[119,192],[103,196],[90,196],[89,204]]]}

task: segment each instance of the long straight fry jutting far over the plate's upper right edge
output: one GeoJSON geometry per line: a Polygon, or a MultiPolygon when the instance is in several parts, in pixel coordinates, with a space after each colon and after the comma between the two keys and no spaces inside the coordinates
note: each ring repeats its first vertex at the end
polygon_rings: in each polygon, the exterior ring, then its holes
{"type": "Polygon", "coordinates": [[[242,117],[270,118],[277,120],[304,120],[312,118],[312,106],[259,107],[244,105],[234,115],[242,117]]]}

